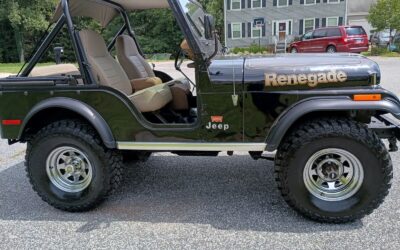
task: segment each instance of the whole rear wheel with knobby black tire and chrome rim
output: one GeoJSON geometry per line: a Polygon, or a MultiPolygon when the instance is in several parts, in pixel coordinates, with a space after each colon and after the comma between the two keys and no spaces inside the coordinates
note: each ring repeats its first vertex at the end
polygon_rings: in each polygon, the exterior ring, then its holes
{"type": "Polygon", "coordinates": [[[51,206],[87,211],[113,193],[122,180],[122,156],[103,146],[87,124],[54,122],[29,141],[26,172],[33,189],[51,206]]]}

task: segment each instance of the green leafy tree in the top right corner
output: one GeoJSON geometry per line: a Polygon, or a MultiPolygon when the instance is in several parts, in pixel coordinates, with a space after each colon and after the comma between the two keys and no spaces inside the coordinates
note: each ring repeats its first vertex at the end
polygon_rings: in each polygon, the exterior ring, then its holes
{"type": "Polygon", "coordinates": [[[370,10],[368,21],[377,30],[400,30],[400,0],[378,0],[370,10]]]}

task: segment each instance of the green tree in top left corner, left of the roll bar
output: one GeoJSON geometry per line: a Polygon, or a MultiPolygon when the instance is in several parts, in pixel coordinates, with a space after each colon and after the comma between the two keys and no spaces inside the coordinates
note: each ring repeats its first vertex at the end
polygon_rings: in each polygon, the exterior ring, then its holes
{"type": "Polygon", "coordinates": [[[55,0],[2,0],[0,16],[13,28],[20,62],[25,61],[26,37],[48,27],[55,5],[55,0]]]}

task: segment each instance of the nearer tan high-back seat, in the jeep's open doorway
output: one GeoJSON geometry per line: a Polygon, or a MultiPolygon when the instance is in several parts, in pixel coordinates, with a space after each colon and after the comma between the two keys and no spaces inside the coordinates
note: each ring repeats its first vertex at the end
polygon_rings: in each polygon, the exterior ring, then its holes
{"type": "Polygon", "coordinates": [[[91,30],[82,30],[79,35],[93,76],[99,84],[121,91],[141,112],[159,110],[172,100],[171,90],[165,84],[134,93],[131,81],[108,52],[104,39],[91,30]]]}

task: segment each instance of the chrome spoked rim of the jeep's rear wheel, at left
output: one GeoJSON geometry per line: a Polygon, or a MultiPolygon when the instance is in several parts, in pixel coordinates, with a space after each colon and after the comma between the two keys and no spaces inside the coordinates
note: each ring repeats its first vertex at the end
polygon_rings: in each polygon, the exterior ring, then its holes
{"type": "Polygon", "coordinates": [[[86,189],[93,177],[92,164],[88,157],[74,147],[54,149],[47,157],[46,172],[57,188],[68,193],[86,189]]]}

